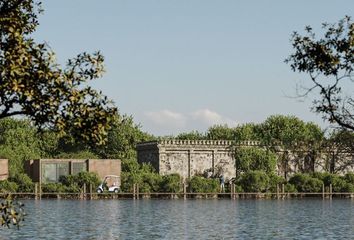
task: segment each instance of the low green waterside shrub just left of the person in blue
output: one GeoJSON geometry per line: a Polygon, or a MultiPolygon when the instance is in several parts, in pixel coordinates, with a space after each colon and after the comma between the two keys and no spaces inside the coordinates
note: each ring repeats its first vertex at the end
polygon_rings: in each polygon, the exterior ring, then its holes
{"type": "Polygon", "coordinates": [[[194,193],[219,192],[219,179],[194,176],[189,181],[189,189],[194,193]]]}

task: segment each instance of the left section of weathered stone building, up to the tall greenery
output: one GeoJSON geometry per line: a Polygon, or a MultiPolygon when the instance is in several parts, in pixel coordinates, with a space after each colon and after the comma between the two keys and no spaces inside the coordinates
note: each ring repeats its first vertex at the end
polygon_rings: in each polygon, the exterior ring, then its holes
{"type": "Polygon", "coordinates": [[[137,145],[139,163],[151,163],[161,174],[178,173],[188,178],[210,170],[227,179],[236,176],[231,141],[162,140],[137,145]]]}

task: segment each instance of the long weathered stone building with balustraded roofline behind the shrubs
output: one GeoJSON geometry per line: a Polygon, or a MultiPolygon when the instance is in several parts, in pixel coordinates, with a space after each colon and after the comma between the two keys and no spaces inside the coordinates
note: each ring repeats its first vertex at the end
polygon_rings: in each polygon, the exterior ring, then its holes
{"type": "MultiPolygon", "coordinates": [[[[231,179],[236,177],[235,150],[244,147],[266,149],[257,141],[161,140],[139,143],[137,154],[139,163],[150,163],[161,175],[178,173],[186,179],[207,172],[231,179]]],[[[276,173],[286,179],[297,172],[344,174],[354,171],[354,154],[347,151],[326,150],[314,155],[311,151],[299,154],[275,149],[276,173]]]]}

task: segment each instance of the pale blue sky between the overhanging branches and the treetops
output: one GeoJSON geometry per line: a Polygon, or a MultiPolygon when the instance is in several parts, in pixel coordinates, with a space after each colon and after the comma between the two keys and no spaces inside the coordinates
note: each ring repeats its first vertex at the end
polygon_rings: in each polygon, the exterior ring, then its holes
{"type": "Polygon", "coordinates": [[[101,51],[106,73],[90,83],[142,130],[176,135],[214,124],[295,115],[327,127],[297,99],[308,77],[284,63],[291,34],[353,16],[353,0],[44,1],[34,34],[61,64],[101,51]]]}

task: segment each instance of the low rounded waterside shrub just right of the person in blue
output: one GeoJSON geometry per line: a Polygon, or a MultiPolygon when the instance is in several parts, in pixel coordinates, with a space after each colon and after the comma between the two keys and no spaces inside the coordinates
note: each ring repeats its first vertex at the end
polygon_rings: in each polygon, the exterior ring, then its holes
{"type": "Polygon", "coordinates": [[[238,184],[245,192],[266,192],[269,188],[269,177],[263,171],[249,171],[241,175],[238,184]]]}

